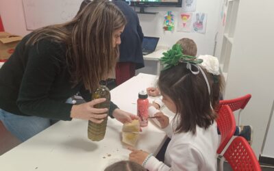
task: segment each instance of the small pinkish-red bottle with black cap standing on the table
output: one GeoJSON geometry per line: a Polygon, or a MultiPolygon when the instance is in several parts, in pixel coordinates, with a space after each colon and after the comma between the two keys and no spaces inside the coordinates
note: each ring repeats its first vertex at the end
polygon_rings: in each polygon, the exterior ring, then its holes
{"type": "Polygon", "coordinates": [[[137,100],[137,115],[140,117],[140,127],[147,127],[149,119],[148,109],[149,99],[147,99],[147,92],[139,92],[137,100]]]}

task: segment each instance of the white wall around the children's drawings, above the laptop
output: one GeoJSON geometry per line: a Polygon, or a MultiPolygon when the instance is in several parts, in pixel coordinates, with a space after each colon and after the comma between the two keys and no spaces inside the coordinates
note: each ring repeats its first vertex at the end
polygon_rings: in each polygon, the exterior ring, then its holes
{"type": "MultiPolygon", "coordinates": [[[[171,47],[177,40],[181,38],[191,38],[195,40],[198,52],[197,55],[213,54],[214,37],[216,34],[216,25],[220,18],[221,0],[198,0],[196,12],[205,12],[208,14],[206,24],[206,34],[187,33],[177,31],[177,20],[182,8],[145,8],[147,12],[159,12],[158,14],[138,14],[140,25],[145,36],[160,37],[159,45],[171,47]],[[175,15],[175,31],[163,31],[164,15],[171,10],[175,15]]],[[[138,8],[136,8],[136,11],[138,8]]]]}

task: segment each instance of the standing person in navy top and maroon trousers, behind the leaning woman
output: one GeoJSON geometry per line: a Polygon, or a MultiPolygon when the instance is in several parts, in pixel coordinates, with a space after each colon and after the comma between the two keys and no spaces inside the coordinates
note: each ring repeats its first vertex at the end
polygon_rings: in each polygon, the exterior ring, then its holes
{"type": "MultiPolygon", "coordinates": [[[[77,13],[79,14],[90,2],[90,0],[82,1],[77,13]]],[[[112,73],[110,79],[108,79],[109,88],[119,86],[121,83],[134,77],[136,69],[144,67],[144,58],[142,57],[142,39],[144,34],[142,34],[138,15],[125,0],[113,0],[112,3],[123,12],[127,19],[127,25],[125,25],[123,34],[121,34],[122,42],[119,46],[119,62],[116,64],[115,73],[112,73]],[[114,83],[112,78],[116,79],[116,83],[114,83]]]]}

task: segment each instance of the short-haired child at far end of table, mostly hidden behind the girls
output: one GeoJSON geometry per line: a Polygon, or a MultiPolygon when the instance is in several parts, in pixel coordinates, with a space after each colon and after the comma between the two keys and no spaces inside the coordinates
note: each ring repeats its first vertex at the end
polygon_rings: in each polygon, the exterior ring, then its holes
{"type": "MultiPolygon", "coordinates": [[[[190,56],[196,56],[197,55],[197,45],[196,43],[189,38],[182,38],[176,42],[176,44],[180,44],[182,46],[182,49],[184,49],[184,54],[190,55],[190,56]]],[[[160,96],[160,91],[158,88],[147,88],[147,94],[149,96],[160,96]]],[[[157,106],[155,106],[157,109],[157,106]]]]}

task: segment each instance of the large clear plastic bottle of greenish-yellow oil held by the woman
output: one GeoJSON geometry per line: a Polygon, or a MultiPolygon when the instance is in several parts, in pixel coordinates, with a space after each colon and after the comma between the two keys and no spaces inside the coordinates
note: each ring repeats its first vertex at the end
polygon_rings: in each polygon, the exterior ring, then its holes
{"type": "MultiPolygon", "coordinates": [[[[99,88],[92,94],[92,100],[96,98],[105,98],[103,103],[95,105],[95,108],[108,108],[110,109],[110,90],[105,86],[105,82],[101,81],[99,88]]],[[[99,142],[105,137],[105,129],[107,127],[108,116],[104,118],[101,124],[94,123],[88,120],[88,138],[92,141],[99,142]]]]}

